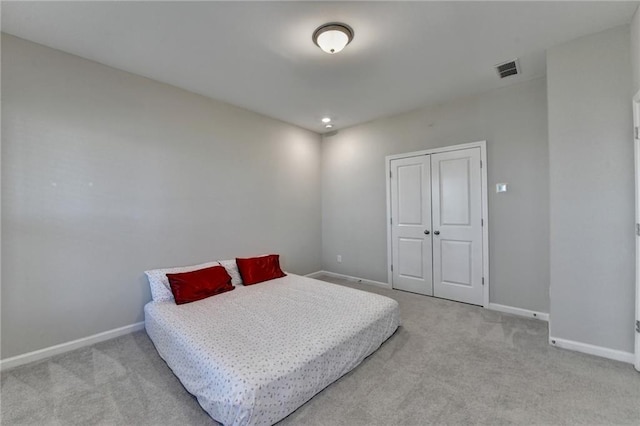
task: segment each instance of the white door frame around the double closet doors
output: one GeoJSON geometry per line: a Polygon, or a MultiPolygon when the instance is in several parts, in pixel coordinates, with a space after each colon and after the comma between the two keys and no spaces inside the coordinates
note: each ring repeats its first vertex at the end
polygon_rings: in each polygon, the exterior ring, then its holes
{"type": "Polygon", "coordinates": [[[393,272],[391,271],[391,263],[393,260],[392,238],[391,238],[391,160],[399,158],[418,157],[420,155],[430,155],[439,152],[459,151],[468,148],[480,148],[480,175],[482,188],[480,189],[482,197],[482,276],[484,278],[483,303],[485,308],[489,307],[489,207],[488,207],[488,185],[487,185],[487,141],[477,141],[463,143],[459,145],[450,145],[440,148],[431,148],[422,151],[407,152],[403,154],[387,155],[385,157],[385,173],[387,181],[387,280],[391,288],[393,288],[393,272]]]}

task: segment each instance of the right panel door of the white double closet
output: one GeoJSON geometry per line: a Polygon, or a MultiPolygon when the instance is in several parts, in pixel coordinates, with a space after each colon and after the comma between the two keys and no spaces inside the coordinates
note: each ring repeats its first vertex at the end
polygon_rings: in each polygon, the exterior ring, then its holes
{"type": "Polygon", "coordinates": [[[480,148],[431,155],[433,294],[483,304],[480,148]]]}

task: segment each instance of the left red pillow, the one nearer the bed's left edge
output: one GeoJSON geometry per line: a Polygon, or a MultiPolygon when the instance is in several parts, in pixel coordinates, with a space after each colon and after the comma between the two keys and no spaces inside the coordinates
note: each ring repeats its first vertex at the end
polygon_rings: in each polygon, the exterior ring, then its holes
{"type": "Polygon", "coordinates": [[[195,302],[233,290],[231,276],[224,266],[212,266],[197,271],[167,274],[177,305],[195,302]]]}

